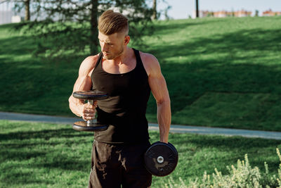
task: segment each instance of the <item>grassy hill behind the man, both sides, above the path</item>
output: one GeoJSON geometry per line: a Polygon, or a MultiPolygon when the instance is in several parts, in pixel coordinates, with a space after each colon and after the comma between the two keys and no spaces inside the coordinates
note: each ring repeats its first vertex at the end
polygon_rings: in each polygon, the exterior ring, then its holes
{"type": "MultiPolygon", "coordinates": [[[[67,99],[87,54],[34,58],[34,39],[12,26],[0,25],[0,111],[72,115],[67,99]]],[[[281,131],[280,16],[159,21],[144,41],[133,47],[158,58],[172,123],[281,131]]],[[[156,121],[152,96],[147,117],[156,121]]]]}

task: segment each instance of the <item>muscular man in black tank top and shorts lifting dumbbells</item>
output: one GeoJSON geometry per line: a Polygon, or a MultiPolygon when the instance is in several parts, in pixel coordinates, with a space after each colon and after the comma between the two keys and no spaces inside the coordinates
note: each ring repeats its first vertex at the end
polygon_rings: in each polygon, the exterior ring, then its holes
{"type": "Polygon", "coordinates": [[[157,101],[160,142],[168,142],[171,108],[166,82],[157,59],[131,49],[128,19],[105,11],[98,20],[101,52],[87,57],[79,68],[73,92],[99,90],[108,99],[84,104],[70,96],[71,111],[84,120],[98,113],[110,126],[94,133],[89,187],[150,187],[143,154],[150,146],[145,111],[150,90],[157,101]]]}

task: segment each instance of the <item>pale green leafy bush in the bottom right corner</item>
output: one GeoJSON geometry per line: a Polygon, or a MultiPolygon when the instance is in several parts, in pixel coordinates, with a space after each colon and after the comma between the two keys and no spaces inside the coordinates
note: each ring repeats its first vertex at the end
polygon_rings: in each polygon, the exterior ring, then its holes
{"type": "Polygon", "coordinates": [[[215,168],[215,173],[212,176],[207,175],[206,171],[202,177],[202,180],[198,179],[194,182],[190,182],[188,185],[180,178],[180,183],[177,184],[173,179],[169,180],[169,184],[165,184],[165,187],[180,187],[180,188],[259,188],[259,187],[279,187],[281,188],[281,154],[280,150],[276,149],[277,155],[280,159],[280,165],[278,168],[278,174],[269,175],[268,164],[265,162],[265,173],[261,173],[258,167],[251,168],[247,154],[244,157],[244,161],[237,161],[237,167],[231,165],[227,166],[229,175],[222,175],[215,168]]]}

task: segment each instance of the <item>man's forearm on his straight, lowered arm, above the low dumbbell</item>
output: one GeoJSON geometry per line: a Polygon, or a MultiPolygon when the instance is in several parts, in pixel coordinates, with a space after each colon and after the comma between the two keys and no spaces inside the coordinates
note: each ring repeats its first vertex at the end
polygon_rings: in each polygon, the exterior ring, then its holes
{"type": "Polygon", "coordinates": [[[160,142],[168,142],[171,125],[171,104],[170,101],[163,101],[157,104],[157,120],[159,125],[160,142]]]}

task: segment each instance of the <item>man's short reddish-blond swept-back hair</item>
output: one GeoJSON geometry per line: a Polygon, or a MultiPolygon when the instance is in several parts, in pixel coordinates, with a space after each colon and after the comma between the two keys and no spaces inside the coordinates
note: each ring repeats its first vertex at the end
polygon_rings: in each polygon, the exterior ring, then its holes
{"type": "Polygon", "coordinates": [[[104,35],[112,35],[115,32],[126,32],[128,35],[128,18],[122,13],[115,13],[112,10],[105,11],[98,18],[98,30],[104,35]]]}

